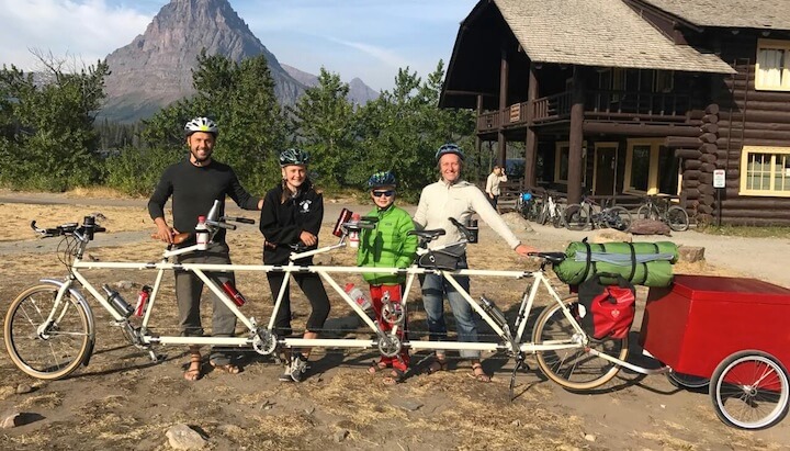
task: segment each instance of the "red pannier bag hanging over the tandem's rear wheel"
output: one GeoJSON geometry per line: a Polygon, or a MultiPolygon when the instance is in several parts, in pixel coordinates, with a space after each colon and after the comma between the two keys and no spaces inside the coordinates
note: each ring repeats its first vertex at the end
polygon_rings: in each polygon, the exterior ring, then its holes
{"type": "Polygon", "coordinates": [[[636,290],[622,275],[596,274],[578,285],[582,328],[596,340],[623,339],[636,314],[636,290]],[[616,277],[617,285],[601,285],[601,275],[616,277]]]}

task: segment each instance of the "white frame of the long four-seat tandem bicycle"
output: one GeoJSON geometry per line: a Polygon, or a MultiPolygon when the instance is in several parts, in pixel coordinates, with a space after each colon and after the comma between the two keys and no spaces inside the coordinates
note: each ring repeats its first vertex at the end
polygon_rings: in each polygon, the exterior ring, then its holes
{"type": "MultiPolygon", "coordinates": [[[[460,241],[465,243],[465,241],[460,241]]],[[[455,246],[459,243],[453,243],[443,247],[451,247],[455,246]]],[[[545,290],[549,292],[550,296],[557,303],[562,303],[562,300],[560,295],[556,293],[556,291],[551,286],[549,283],[549,280],[545,278],[543,271],[496,271],[496,270],[472,270],[472,269],[462,269],[462,270],[455,270],[455,271],[444,271],[444,270],[432,270],[432,269],[425,269],[425,268],[418,268],[416,266],[413,266],[410,268],[406,269],[399,269],[399,268],[357,268],[357,267],[324,267],[324,266],[298,266],[295,264],[294,261],[312,256],[312,255],[318,255],[323,252],[327,252],[340,247],[346,246],[345,244],[345,236],[341,238],[341,241],[334,246],[328,246],[324,248],[319,248],[313,251],[308,252],[294,252],[291,256],[291,261],[287,266],[268,266],[268,264],[204,264],[204,263],[172,263],[168,262],[167,260],[170,257],[178,256],[181,253],[187,252],[193,252],[199,251],[198,245],[185,247],[182,249],[177,250],[166,250],[162,253],[162,261],[158,263],[154,262],[98,262],[98,261],[86,261],[81,258],[81,252],[78,253],[78,256],[75,258],[75,261],[71,264],[71,274],[69,278],[67,278],[67,281],[65,283],[60,284],[60,287],[58,290],[58,295],[56,300],[56,307],[53,308],[53,312],[50,313],[50,317],[48,318],[48,323],[52,322],[55,317],[56,312],[58,312],[60,308],[57,307],[60,305],[59,303],[63,302],[64,296],[69,291],[74,290],[74,282],[78,282],[80,285],[82,285],[93,298],[97,300],[97,302],[105,309],[108,311],[116,324],[123,324],[127,322],[127,319],[119,314],[115,308],[110,305],[110,303],[104,298],[104,296],[100,293],[99,290],[88,280],[88,278],[82,274],[81,270],[91,270],[91,269],[113,269],[113,270],[156,270],[157,275],[156,280],[150,293],[150,297],[148,301],[148,307],[146,309],[145,316],[143,317],[143,323],[140,326],[139,335],[140,335],[140,342],[143,345],[149,346],[149,345],[216,345],[216,346],[229,346],[229,347],[248,347],[253,343],[255,336],[257,334],[261,332],[261,328],[259,327],[258,323],[255,320],[255,318],[247,317],[244,315],[244,313],[239,309],[238,306],[228,297],[228,295],[222,290],[222,287],[212,280],[208,275],[206,275],[206,272],[222,272],[222,271],[253,271],[253,272],[284,272],[286,274],[291,273],[304,273],[304,272],[311,272],[316,273],[321,277],[321,279],[328,283],[329,286],[335,290],[340,297],[346,301],[346,303],[353,309],[353,312],[364,322],[364,324],[368,326],[368,328],[376,335],[379,340],[375,339],[302,339],[302,338],[279,338],[278,345],[285,347],[285,348],[295,348],[295,347],[329,347],[329,348],[375,348],[381,347],[381,343],[384,341],[386,342],[387,339],[393,339],[395,337],[395,334],[397,332],[397,326],[393,328],[390,332],[384,332],[381,330],[376,322],[374,322],[357,303],[343,291],[343,289],[340,286],[340,284],[332,278],[332,274],[342,274],[342,273],[351,273],[351,274],[361,274],[365,272],[376,272],[376,273],[405,273],[407,274],[407,281],[406,281],[406,289],[404,290],[404,295],[402,296],[402,308],[406,307],[406,303],[408,302],[408,293],[410,289],[414,285],[415,278],[419,274],[427,274],[427,273],[435,273],[443,277],[448,280],[450,284],[452,284],[459,293],[463,296],[463,298],[472,306],[472,308],[477,312],[481,317],[488,324],[488,326],[495,331],[495,334],[501,339],[500,342],[452,342],[452,341],[406,341],[403,343],[399,343],[404,348],[410,348],[410,349],[447,349],[447,350],[478,350],[478,351],[507,351],[507,352],[529,352],[533,353],[541,350],[556,350],[562,348],[567,348],[568,343],[556,343],[551,346],[534,346],[532,343],[526,343],[522,342],[522,338],[524,336],[524,331],[527,330],[527,317],[529,316],[530,311],[532,309],[532,306],[534,304],[534,300],[538,294],[538,290],[540,285],[543,285],[545,290]],[[212,291],[216,296],[219,297],[219,300],[233,312],[233,314],[236,316],[236,318],[246,327],[246,329],[249,331],[248,337],[180,337],[180,336],[156,336],[149,334],[148,325],[153,316],[153,312],[155,309],[155,305],[157,303],[158,294],[161,289],[161,282],[162,278],[166,271],[172,271],[172,270],[183,270],[183,271],[190,271],[193,272],[195,275],[198,275],[204,284],[208,287],[208,290],[212,291]],[[522,296],[521,304],[519,306],[519,313],[516,318],[516,324],[514,325],[514,328],[516,329],[516,336],[512,336],[509,330],[505,330],[504,327],[500,327],[493,318],[492,316],[486,313],[483,307],[474,301],[474,298],[471,296],[469,292],[463,290],[463,287],[459,284],[456,281],[456,277],[466,275],[466,277],[498,277],[498,278],[512,278],[512,279],[524,279],[524,278],[532,278],[533,282],[529,290],[524,291],[524,295],[522,296]]],[[[280,292],[276,295],[275,302],[274,302],[274,311],[272,312],[271,318],[268,322],[268,327],[266,328],[267,331],[273,332],[274,327],[274,316],[278,312],[278,309],[281,307],[282,298],[285,292],[285,287],[289,285],[291,278],[286,278],[285,282],[283,283],[283,286],[281,287],[280,292]]],[[[52,281],[50,281],[52,282],[52,281]]],[[[580,329],[580,326],[573,319],[573,315],[565,308],[565,315],[568,317],[568,320],[574,324],[574,327],[577,329],[577,332],[583,335],[583,331],[580,329]]],[[[506,325],[506,328],[509,329],[509,326],[506,325]]],[[[580,346],[580,345],[579,345],[580,346]]],[[[264,351],[268,352],[261,352],[261,353],[269,353],[273,351],[273,348],[264,349],[264,351]]],[[[394,352],[394,351],[393,351],[394,352]]]]}

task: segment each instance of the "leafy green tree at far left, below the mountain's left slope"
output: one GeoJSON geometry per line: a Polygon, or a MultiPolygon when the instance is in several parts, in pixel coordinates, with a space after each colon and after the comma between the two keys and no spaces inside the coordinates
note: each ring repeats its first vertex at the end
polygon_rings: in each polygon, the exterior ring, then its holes
{"type": "Polygon", "coordinates": [[[21,188],[66,190],[98,180],[95,113],[104,98],[105,63],[66,70],[38,55],[41,81],[16,67],[0,70],[0,180],[21,188]]]}

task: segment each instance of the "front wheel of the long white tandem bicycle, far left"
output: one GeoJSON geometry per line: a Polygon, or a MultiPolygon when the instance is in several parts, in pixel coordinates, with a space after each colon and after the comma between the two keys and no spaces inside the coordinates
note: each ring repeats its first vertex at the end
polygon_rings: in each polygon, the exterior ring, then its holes
{"type": "Polygon", "coordinates": [[[32,286],[16,296],[5,315],[5,349],[11,361],[33,377],[65,377],[88,352],[88,313],[70,293],[56,306],[57,293],[55,285],[32,286]],[[42,326],[56,307],[52,324],[42,326]]]}

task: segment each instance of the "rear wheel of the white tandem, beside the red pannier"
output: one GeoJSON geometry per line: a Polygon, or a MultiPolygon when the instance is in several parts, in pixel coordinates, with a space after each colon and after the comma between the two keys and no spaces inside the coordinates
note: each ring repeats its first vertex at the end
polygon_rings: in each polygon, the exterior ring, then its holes
{"type": "MultiPolygon", "coordinates": [[[[572,295],[563,303],[571,313],[578,312],[578,298],[572,295]]],[[[576,331],[560,304],[550,305],[538,317],[532,341],[535,345],[555,345],[560,349],[538,351],[538,367],[543,374],[568,390],[591,390],[611,381],[620,367],[589,352],[596,349],[620,360],[628,356],[628,337],[590,341],[584,346],[584,335],[576,331]],[[567,347],[563,347],[567,345],[567,347]]]]}

